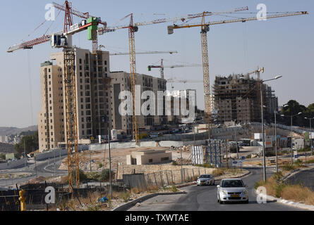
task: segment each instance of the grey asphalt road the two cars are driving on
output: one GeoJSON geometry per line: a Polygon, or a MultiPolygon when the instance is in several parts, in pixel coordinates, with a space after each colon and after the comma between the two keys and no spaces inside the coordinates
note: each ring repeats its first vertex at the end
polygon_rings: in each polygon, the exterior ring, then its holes
{"type": "MultiPolygon", "coordinates": [[[[249,188],[248,204],[224,204],[217,203],[216,186],[188,186],[181,188],[186,191],[183,195],[164,195],[151,198],[140,203],[140,206],[132,207],[129,211],[294,211],[301,210],[296,207],[283,205],[282,203],[267,202],[258,204],[254,193],[254,184],[262,179],[262,169],[247,168],[251,174],[243,177],[244,184],[249,188]]],[[[271,176],[273,169],[267,169],[271,176]]]]}

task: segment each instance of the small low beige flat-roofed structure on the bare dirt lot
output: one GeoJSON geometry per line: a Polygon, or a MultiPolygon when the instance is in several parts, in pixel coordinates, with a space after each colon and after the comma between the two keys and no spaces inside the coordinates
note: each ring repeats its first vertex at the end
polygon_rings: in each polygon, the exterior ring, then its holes
{"type": "Polygon", "coordinates": [[[166,150],[139,150],[126,155],[126,165],[149,165],[171,160],[172,153],[166,153],[166,150]]]}

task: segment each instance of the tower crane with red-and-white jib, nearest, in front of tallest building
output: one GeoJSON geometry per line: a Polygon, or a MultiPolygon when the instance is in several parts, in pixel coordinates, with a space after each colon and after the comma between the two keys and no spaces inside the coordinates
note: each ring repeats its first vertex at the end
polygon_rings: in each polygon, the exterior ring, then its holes
{"type": "Polygon", "coordinates": [[[53,3],[53,6],[64,11],[64,30],[54,34],[44,34],[42,37],[25,41],[8,48],[8,53],[19,49],[32,49],[33,46],[50,41],[52,47],[63,49],[64,52],[64,98],[65,98],[65,121],[66,121],[66,149],[68,152],[68,185],[71,191],[73,186],[80,186],[79,158],[78,158],[78,120],[76,105],[76,74],[75,52],[72,45],[72,37],[78,32],[88,31],[88,39],[92,41],[93,53],[97,51],[97,28],[98,25],[107,27],[106,22],[100,18],[91,16],[89,13],[81,13],[72,8],[69,1],[63,5],[53,3]],[[73,24],[73,15],[83,18],[81,23],[73,24]],[[75,185],[74,185],[75,183],[75,185]]]}

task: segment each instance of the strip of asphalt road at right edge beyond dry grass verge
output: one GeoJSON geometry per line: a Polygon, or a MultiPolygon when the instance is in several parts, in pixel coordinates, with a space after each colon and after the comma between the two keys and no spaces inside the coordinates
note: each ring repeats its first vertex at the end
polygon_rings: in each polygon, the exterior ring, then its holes
{"type": "Polygon", "coordinates": [[[314,191],[314,169],[298,172],[294,176],[290,176],[286,179],[286,183],[303,184],[310,188],[310,190],[314,191]]]}

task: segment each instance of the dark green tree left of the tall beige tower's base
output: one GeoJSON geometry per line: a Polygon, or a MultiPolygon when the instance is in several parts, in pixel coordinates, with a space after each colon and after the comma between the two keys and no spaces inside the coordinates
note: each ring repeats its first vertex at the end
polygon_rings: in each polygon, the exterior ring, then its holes
{"type": "Polygon", "coordinates": [[[20,143],[17,143],[16,146],[14,146],[16,153],[18,153],[19,156],[23,155],[24,149],[26,154],[28,154],[38,150],[39,147],[38,131],[35,131],[35,133],[32,135],[23,136],[23,138],[20,140],[20,143]]]}

